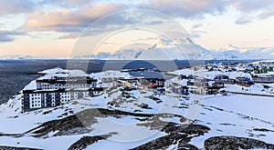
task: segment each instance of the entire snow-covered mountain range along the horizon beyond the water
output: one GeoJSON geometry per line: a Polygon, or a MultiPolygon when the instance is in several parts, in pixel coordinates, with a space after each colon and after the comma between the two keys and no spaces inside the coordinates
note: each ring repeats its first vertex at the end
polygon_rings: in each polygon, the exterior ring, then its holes
{"type": "MultiPolygon", "coordinates": [[[[0,59],[33,59],[30,55],[5,55],[0,59]]],[[[190,38],[159,39],[155,45],[129,45],[114,53],[100,52],[97,55],[79,55],[79,59],[109,60],[250,60],[274,59],[274,48],[248,48],[245,51],[231,46],[231,49],[213,51],[196,45],[190,38]]]]}

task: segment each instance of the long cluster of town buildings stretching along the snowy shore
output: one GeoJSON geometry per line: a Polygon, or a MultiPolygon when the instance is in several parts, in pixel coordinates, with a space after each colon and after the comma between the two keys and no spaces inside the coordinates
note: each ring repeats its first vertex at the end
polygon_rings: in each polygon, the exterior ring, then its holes
{"type": "MultiPolygon", "coordinates": [[[[201,66],[205,76],[179,75],[171,82],[157,69],[124,69],[92,76],[84,72],[57,69],[36,80],[34,88],[23,90],[23,110],[63,105],[74,99],[89,98],[119,86],[125,89],[152,89],[157,94],[170,90],[178,95],[227,95],[226,85],[249,87],[255,84],[274,83],[273,62],[259,64],[216,64],[201,66]],[[263,70],[259,71],[258,70],[263,70]],[[211,74],[213,73],[213,74],[211,74]],[[210,77],[208,75],[211,75],[210,77]],[[214,75],[214,76],[212,76],[214,75]],[[90,77],[92,76],[92,77],[90,77]]],[[[195,66],[196,67],[196,66],[195,66]]],[[[172,78],[172,77],[170,77],[172,78]]]]}

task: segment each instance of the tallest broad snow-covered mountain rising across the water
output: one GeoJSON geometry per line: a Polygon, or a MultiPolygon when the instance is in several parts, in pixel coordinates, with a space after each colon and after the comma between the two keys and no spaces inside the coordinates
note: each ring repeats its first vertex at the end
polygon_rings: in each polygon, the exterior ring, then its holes
{"type": "Polygon", "coordinates": [[[166,40],[159,39],[155,45],[143,48],[142,45],[131,45],[114,52],[111,60],[174,60],[174,59],[202,59],[203,55],[210,54],[200,45],[195,45],[186,39],[166,40]],[[141,48],[139,48],[141,47],[141,48]]]}

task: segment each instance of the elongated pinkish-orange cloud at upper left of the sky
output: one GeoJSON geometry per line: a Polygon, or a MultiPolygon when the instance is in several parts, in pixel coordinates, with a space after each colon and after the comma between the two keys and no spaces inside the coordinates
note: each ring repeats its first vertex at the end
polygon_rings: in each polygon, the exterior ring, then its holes
{"type": "Polygon", "coordinates": [[[87,27],[103,15],[118,11],[121,4],[86,5],[77,10],[58,9],[51,12],[36,11],[27,15],[24,29],[39,31],[67,31],[87,27]]]}

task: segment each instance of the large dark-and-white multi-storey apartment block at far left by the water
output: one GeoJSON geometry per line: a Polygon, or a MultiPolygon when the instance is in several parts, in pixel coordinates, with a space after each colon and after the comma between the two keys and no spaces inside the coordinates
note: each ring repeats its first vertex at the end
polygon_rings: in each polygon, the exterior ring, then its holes
{"type": "Polygon", "coordinates": [[[100,95],[103,88],[96,87],[97,79],[81,71],[64,71],[60,68],[37,79],[37,88],[23,90],[23,110],[63,105],[70,100],[100,95]],[[75,74],[79,73],[79,74],[75,74]]]}

